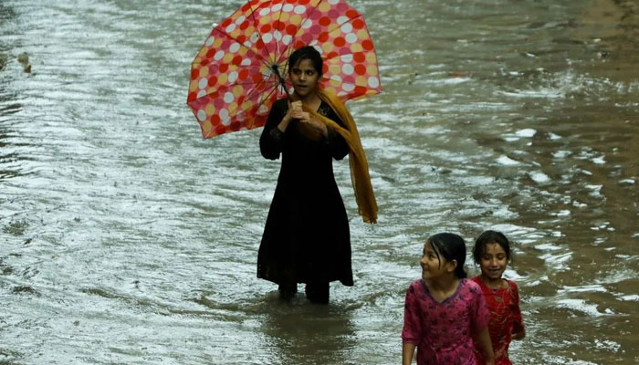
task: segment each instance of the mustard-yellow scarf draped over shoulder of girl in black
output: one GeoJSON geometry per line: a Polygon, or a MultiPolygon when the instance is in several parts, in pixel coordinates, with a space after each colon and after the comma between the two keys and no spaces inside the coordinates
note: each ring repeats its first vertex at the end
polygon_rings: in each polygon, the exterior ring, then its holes
{"type": "MultiPolygon", "coordinates": [[[[334,120],[330,120],[319,114],[315,110],[309,110],[306,106],[303,110],[309,112],[315,119],[321,120],[327,127],[340,133],[344,141],[349,146],[349,162],[351,164],[351,183],[355,193],[355,201],[357,202],[358,211],[365,223],[377,223],[377,212],[379,207],[375,200],[375,193],[372,191],[371,175],[368,172],[368,162],[366,161],[366,153],[361,147],[360,133],[357,131],[355,120],[352,119],[351,112],[346,109],[344,103],[337,95],[318,88],[319,99],[329,104],[330,109],[334,110],[340,120],[344,122],[346,128],[340,126],[334,120]]],[[[295,96],[291,95],[294,99],[295,96]]],[[[309,130],[300,130],[305,135],[312,138],[312,132],[309,130]]],[[[319,136],[318,136],[319,137],[319,136]]]]}

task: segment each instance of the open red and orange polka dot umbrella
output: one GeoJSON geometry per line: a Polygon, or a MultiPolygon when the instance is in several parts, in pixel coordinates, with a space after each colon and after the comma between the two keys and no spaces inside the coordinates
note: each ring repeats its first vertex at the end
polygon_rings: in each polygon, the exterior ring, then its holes
{"type": "Polygon", "coordinates": [[[264,126],[273,102],[293,90],[288,55],[307,45],[324,60],[320,88],[342,101],[381,91],[371,35],[351,5],[251,0],[214,27],[193,61],[187,104],[204,138],[264,126]]]}

